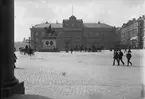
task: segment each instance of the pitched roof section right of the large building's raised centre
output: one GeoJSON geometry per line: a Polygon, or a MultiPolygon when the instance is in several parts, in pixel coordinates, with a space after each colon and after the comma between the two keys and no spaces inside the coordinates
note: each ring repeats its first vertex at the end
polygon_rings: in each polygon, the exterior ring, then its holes
{"type": "Polygon", "coordinates": [[[84,27],[88,28],[113,28],[113,26],[104,23],[84,23],[84,27]]]}

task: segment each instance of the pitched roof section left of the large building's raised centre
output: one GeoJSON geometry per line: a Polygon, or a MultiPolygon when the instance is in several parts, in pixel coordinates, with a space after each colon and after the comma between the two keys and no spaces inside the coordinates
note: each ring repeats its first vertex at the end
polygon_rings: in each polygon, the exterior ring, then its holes
{"type": "Polygon", "coordinates": [[[49,27],[49,25],[51,24],[52,28],[62,28],[62,24],[61,23],[42,23],[42,24],[36,24],[34,26],[34,28],[44,28],[44,27],[49,27]]]}

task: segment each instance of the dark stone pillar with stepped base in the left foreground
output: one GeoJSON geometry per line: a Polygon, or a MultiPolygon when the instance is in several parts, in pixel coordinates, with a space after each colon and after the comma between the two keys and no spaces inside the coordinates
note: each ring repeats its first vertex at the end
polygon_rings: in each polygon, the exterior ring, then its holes
{"type": "Polygon", "coordinates": [[[0,96],[24,94],[24,82],[14,76],[14,0],[0,1],[0,96]]]}

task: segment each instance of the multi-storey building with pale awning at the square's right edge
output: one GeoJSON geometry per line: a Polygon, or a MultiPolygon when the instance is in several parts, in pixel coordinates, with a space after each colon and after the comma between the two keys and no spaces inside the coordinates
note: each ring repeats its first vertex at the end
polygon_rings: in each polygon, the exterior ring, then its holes
{"type": "Polygon", "coordinates": [[[121,45],[142,49],[144,45],[144,16],[129,20],[121,27],[121,45]]]}

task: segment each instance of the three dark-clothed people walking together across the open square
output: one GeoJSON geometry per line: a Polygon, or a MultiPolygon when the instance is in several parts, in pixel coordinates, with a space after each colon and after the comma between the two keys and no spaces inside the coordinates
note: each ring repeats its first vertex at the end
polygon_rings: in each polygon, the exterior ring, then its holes
{"type": "MultiPolygon", "coordinates": [[[[131,50],[129,49],[128,51],[125,49],[126,53],[126,59],[127,59],[127,66],[132,65],[130,59],[132,57],[131,55],[131,50]]],[[[118,66],[120,65],[120,61],[122,62],[123,65],[125,65],[124,61],[123,61],[123,52],[121,51],[121,49],[114,49],[114,55],[113,55],[113,65],[115,65],[115,61],[117,61],[118,66]]]]}

